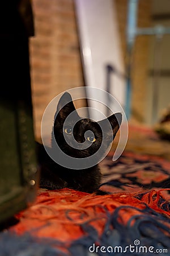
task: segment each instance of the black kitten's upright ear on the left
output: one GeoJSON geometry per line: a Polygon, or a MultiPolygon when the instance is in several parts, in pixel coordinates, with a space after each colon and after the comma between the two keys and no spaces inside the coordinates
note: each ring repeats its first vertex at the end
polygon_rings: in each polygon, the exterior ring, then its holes
{"type": "MultiPolygon", "coordinates": [[[[57,105],[57,116],[61,119],[66,119],[66,117],[71,113],[74,112],[75,106],[73,104],[73,100],[71,98],[70,93],[65,92],[61,98],[59,99],[57,105]]],[[[56,117],[56,115],[55,115],[56,117]]]]}

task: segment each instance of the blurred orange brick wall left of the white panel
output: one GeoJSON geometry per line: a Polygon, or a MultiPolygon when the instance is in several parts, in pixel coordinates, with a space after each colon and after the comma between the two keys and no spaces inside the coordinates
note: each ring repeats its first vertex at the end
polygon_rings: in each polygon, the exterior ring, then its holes
{"type": "Polygon", "coordinates": [[[50,100],[83,86],[73,0],[33,0],[36,36],[31,39],[31,77],[35,135],[50,100]]]}

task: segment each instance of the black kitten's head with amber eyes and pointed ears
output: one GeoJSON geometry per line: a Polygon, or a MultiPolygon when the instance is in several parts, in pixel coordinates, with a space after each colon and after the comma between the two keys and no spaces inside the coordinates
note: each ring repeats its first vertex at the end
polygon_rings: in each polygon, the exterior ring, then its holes
{"type": "Polygon", "coordinates": [[[56,139],[61,150],[73,158],[87,158],[95,154],[101,147],[101,143],[104,145],[104,152],[116,136],[121,121],[121,113],[112,114],[99,122],[79,117],[70,94],[66,92],[57,105],[52,147],[56,139]]]}

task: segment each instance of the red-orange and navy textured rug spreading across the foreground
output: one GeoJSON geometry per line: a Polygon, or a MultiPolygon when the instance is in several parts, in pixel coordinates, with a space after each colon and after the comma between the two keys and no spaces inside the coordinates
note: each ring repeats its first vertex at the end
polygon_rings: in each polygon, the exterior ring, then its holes
{"type": "Polygon", "coordinates": [[[145,147],[112,155],[100,164],[110,195],[39,190],[0,233],[0,255],[170,255],[170,162],[145,147]]]}

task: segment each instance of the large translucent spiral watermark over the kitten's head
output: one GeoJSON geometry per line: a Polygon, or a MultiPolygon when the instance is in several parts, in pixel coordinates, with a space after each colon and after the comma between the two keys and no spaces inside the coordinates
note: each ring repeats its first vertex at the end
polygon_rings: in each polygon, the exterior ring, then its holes
{"type": "MultiPolygon", "coordinates": [[[[78,88],[67,90],[67,92],[71,95],[72,99],[70,97],[67,99],[65,98],[63,102],[59,101],[63,96],[63,93],[59,94],[58,96],[54,97],[52,101],[50,101],[50,103],[46,107],[45,112],[42,116],[41,138],[42,138],[42,143],[44,144],[45,150],[50,156],[50,158],[52,158],[56,163],[58,163],[63,167],[75,169],[75,170],[81,170],[81,169],[86,169],[86,168],[95,166],[97,163],[101,162],[101,160],[105,158],[105,156],[111,150],[111,146],[112,146],[112,144],[109,144],[109,146],[105,148],[105,141],[108,139],[108,134],[110,137],[109,138],[110,141],[112,141],[112,138],[113,138],[113,130],[111,127],[111,123],[108,121],[107,119],[108,116],[106,115],[108,113],[109,113],[109,116],[115,113],[121,113],[122,123],[120,126],[120,137],[119,137],[117,148],[113,154],[113,161],[117,160],[121,156],[122,152],[124,151],[126,142],[128,141],[128,121],[126,119],[126,115],[120,103],[111,94],[98,88],[93,88],[88,86],[78,87],[78,88]],[[69,104],[72,100],[76,102],[77,100],[84,100],[84,99],[86,99],[86,101],[90,103],[90,107],[79,108],[79,109],[76,109],[74,112],[71,112],[65,119],[63,127],[69,122],[71,122],[73,125],[73,121],[74,121],[74,126],[75,126],[76,123],[81,119],[91,118],[93,121],[97,122],[100,125],[100,129],[103,133],[103,136],[102,136],[102,142],[101,142],[100,148],[95,152],[95,154],[92,154],[86,158],[76,158],[76,157],[65,154],[65,152],[63,152],[61,148],[58,146],[56,141],[52,147],[49,147],[49,140],[52,136],[54,116],[56,117],[59,111],[62,108],[64,108],[66,104],[69,104]],[[59,108],[57,107],[58,102],[60,102],[59,108]],[[95,104],[97,104],[97,106],[94,106],[95,104]],[[74,113],[76,111],[78,111],[78,113],[79,112],[82,113],[83,118],[80,118],[78,115],[75,115],[74,113]],[[104,119],[105,122],[99,122],[99,120],[101,119],[102,120],[104,119]],[[107,126],[107,134],[105,132],[106,126],[107,126]],[[109,129],[109,133],[108,133],[108,129],[109,129]]],[[[54,132],[53,132],[53,135],[54,135],[54,132]]],[[[92,144],[92,143],[87,143],[86,141],[83,143],[79,143],[75,139],[74,139],[74,143],[70,144],[69,139],[64,134],[64,130],[63,130],[63,135],[65,137],[67,144],[69,144],[74,149],[76,148],[76,149],[84,150],[90,147],[92,144]]],[[[73,138],[74,137],[72,135],[72,139],[73,138]]]]}

